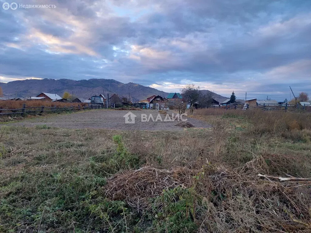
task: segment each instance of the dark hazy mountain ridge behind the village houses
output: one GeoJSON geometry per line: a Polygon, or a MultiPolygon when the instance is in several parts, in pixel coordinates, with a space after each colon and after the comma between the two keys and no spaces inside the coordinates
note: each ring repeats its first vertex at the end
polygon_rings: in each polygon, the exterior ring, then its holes
{"type": "MultiPolygon", "coordinates": [[[[8,83],[1,83],[4,97],[33,97],[41,92],[56,93],[63,96],[64,92],[69,92],[75,97],[89,98],[93,95],[104,94],[111,96],[118,94],[127,97],[133,101],[143,100],[152,95],[167,97],[169,93],[146,87],[137,83],[121,83],[114,79],[89,79],[89,80],[70,80],[70,79],[30,79],[17,80],[8,83]]],[[[209,90],[201,90],[204,94],[209,90]]],[[[218,101],[224,101],[227,97],[218,95],[213,92],[214,98],[218,101]]]]}

